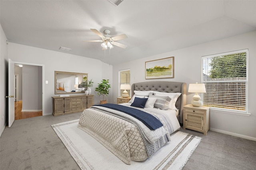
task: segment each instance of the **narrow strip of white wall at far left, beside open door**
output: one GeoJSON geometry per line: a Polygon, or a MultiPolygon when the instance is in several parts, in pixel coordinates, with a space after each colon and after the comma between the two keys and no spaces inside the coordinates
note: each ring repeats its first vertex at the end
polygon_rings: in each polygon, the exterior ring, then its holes
{"type": "Polygon", "coordinates": [[[2,25],[0,25],[0,136],[4,131],[7,121],[6,107],[8,99],[4,96],[8,96],[8,45],[6,44],[6,36],[2,25]]]}

